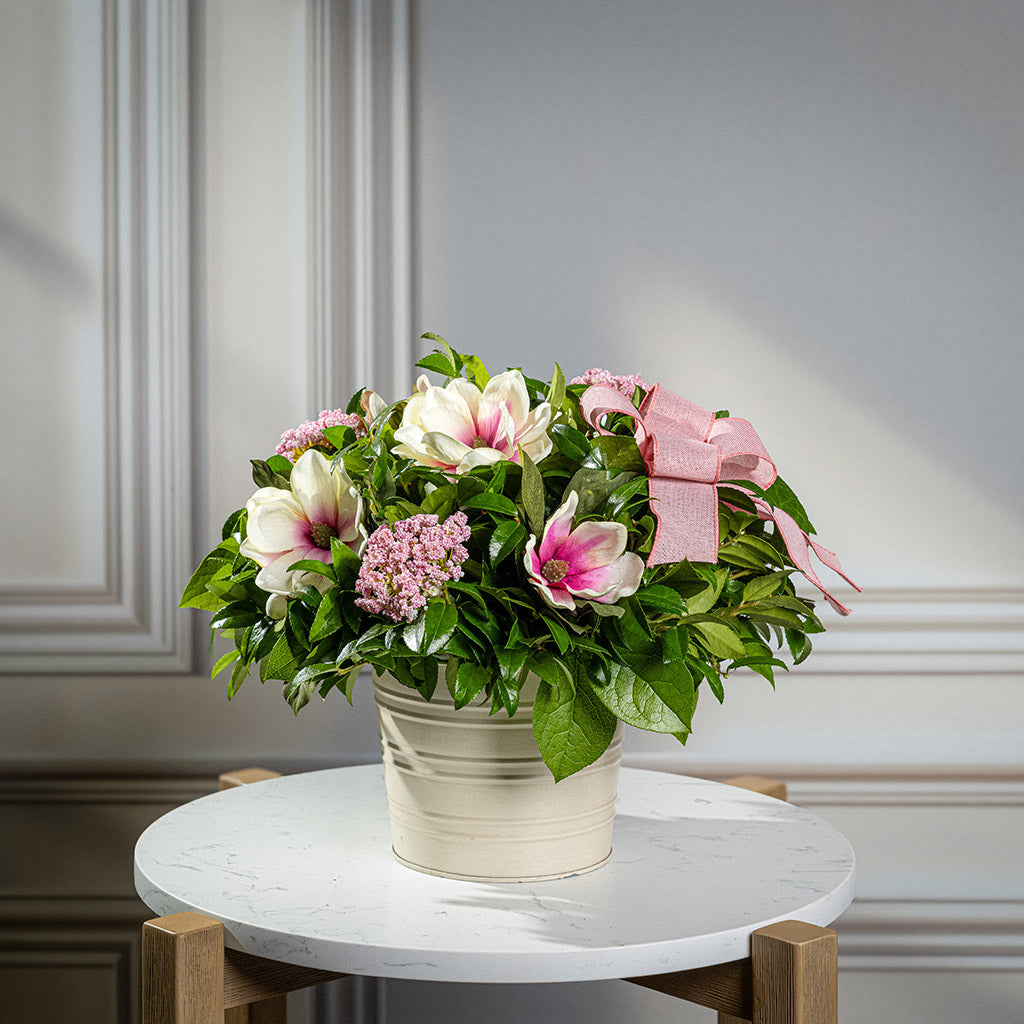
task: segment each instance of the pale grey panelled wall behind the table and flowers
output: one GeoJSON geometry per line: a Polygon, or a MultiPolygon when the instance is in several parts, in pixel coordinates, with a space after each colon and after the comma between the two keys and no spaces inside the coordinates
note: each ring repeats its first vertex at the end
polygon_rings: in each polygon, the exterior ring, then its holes
{"type": "MultiPolygon", "coordinates": [[[[296,720],[251,682],[228,707],[174,604],[248,459],[364,383],[400,394],[425,330],[493,369],[639,372],[757,426],[864,593],[777,692],[736,676],[685,751],[633,736],[627,760],[784,775],[847,833],[847,1024],[1020,1016],[1024,7],[4,18],[15,1020],[131,1019],[130,850],[153,816],[241,764],[377,757],[367,693],[296,720]]],[[[616,983],[380,994],[392,1024],[680,1019],[616,983]]]]}

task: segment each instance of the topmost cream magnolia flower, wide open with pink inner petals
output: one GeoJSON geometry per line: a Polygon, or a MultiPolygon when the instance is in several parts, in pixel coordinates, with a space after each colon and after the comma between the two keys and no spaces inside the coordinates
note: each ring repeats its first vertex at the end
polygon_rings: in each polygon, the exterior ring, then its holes
{"type": "Polygon", "coordinates": [[[540,462],[551,451],[550,422],[548,402],[529,408],[518,370],[492,377],[482,391],[462,378],[438,387],[421,377],[394,432],[394,453],[457,473],[503,459],[518,462],[520,446],[540,462]]]}

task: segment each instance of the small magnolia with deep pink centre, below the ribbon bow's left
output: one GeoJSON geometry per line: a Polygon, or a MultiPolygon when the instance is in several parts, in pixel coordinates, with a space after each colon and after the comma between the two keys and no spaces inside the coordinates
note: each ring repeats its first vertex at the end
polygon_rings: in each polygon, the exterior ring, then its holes
{"type": "Polygon", "coordinates": [[[579,495],[573,490],[548,520],[537,547],[526,542],[523,562],[529,582],[553,608],[575,610],[575,599],[613,604],[640,586],[643,559],[626,550],[626,527],[583,522],[572,528],[579,495]]]}

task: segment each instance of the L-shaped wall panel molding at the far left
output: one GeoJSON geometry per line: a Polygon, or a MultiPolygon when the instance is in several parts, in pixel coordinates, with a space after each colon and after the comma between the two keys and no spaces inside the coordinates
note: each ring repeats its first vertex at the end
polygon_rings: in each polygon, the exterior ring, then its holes
{"type": "Polygon", "coordinates": [[[0,593],[5,673],[191,667],[188,9],[102,5],[106,580],[0,593]]]}

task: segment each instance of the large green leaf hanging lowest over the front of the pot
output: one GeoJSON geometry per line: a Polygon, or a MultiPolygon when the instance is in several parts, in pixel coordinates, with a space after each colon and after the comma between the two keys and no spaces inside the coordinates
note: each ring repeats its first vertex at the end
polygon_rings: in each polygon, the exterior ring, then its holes
{"type": "Polygon", "coordinates": [[[580,682],[542,680],[534,701],[534,738],[556,782],[593,764],[615,731],[615,716],[580,682]]]}

